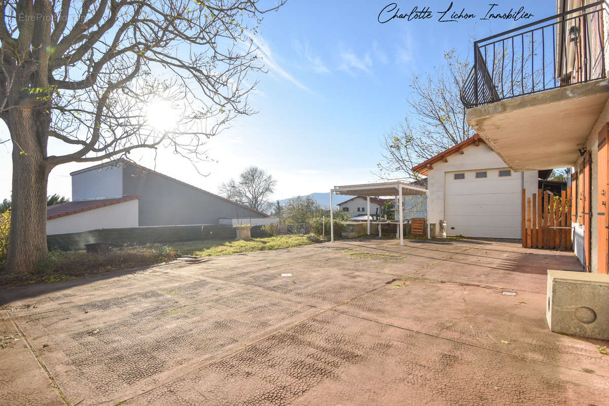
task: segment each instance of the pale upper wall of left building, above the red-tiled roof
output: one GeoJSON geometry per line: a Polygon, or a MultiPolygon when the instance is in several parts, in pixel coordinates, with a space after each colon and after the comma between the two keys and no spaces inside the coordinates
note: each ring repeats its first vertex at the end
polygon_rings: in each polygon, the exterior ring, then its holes
{"type": "Polygon", "coordinates": [[[122,167],[107,166],[72,175],[72,200],[122,196],[122,167]]]}

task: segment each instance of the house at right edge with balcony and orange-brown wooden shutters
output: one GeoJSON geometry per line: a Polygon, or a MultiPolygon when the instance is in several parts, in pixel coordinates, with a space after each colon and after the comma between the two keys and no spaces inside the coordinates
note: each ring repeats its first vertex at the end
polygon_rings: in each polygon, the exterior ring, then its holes
{"type": "Polygon", "coordinates": [[[573,248],[585,270],[608,273],[609,7],[559,0],[555,12],[474,42],[461,99],[504,166],[574,168],[573,248]]]}

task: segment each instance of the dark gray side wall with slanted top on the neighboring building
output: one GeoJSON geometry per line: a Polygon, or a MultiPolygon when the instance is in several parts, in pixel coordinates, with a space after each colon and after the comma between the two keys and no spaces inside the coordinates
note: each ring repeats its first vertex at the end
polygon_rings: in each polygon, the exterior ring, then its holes
{"type": "Polygon", "coordinates": [[[139,226],[217,224],[220,217],[265,217],[196,187],[125,164],[122,194],[139,195],[139,226]]]}

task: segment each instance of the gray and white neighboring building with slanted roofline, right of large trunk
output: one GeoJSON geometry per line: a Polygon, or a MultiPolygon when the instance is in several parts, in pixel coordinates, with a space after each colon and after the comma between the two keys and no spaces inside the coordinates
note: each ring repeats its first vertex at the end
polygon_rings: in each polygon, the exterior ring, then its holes
{"type": "Polygon", "coordinates": [[[119,159],[70,173],[72,201],[47,209],[47,233],[100,228],[267,224],[276,218],[119,159]]]}

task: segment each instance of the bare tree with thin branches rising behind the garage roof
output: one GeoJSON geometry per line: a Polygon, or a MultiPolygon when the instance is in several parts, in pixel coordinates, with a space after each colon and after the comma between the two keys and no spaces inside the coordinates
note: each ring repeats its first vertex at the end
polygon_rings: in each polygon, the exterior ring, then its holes
{"type": "Polygon", "coordinates": [[[381,142],[380,178],[418,180],[421,177],[412,167],[474,135],[460,101],[470,65],[454,50],[446,52],[444,59],[434,72],[412,78],[409,115],[381,142]]]}

